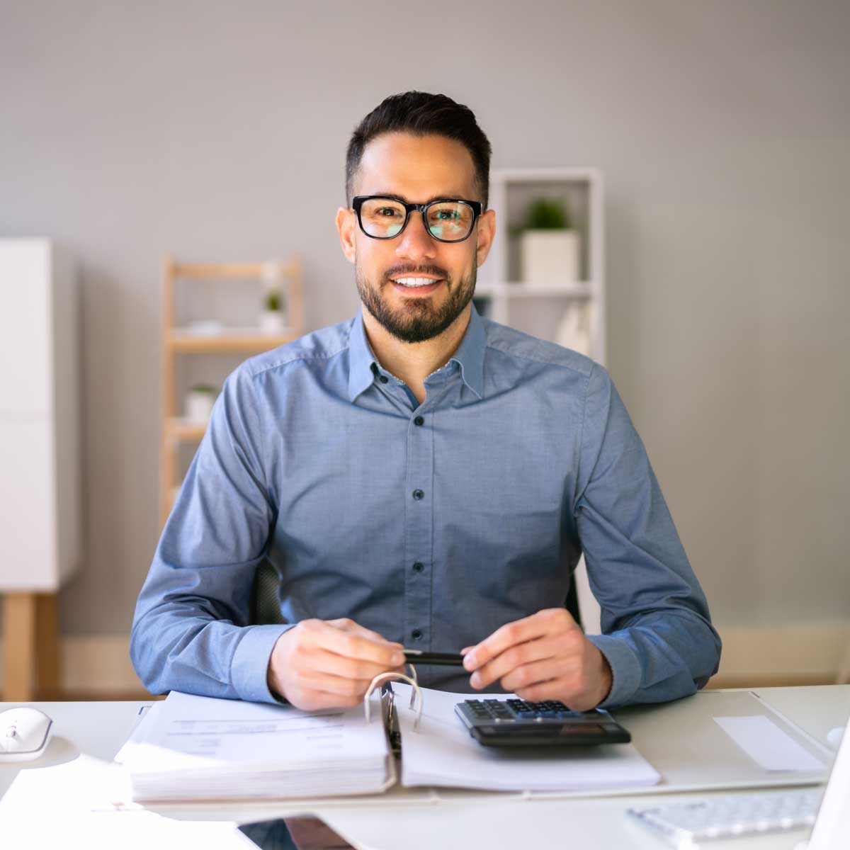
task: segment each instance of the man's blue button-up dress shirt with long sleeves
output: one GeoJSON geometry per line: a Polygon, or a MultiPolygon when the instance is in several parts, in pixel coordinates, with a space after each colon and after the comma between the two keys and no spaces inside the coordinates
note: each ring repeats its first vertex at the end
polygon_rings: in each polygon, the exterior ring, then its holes
{"type": "MultiPolygon", "coordinates": [[[[153,693],[275,702],[275,641],[350,617],[457,651],[563,607],[585,554],[613,685],[671,700],[720,657],[706,598],[605,369],[472,308],[419,405],[371,352],[362,308],[224,383],[139,595],[130,655],[153,693]],[[252,624],[268,557],[285,624],[252,624]]],[[[430,687],[472,691],[459,668],[430,687]]]]}

